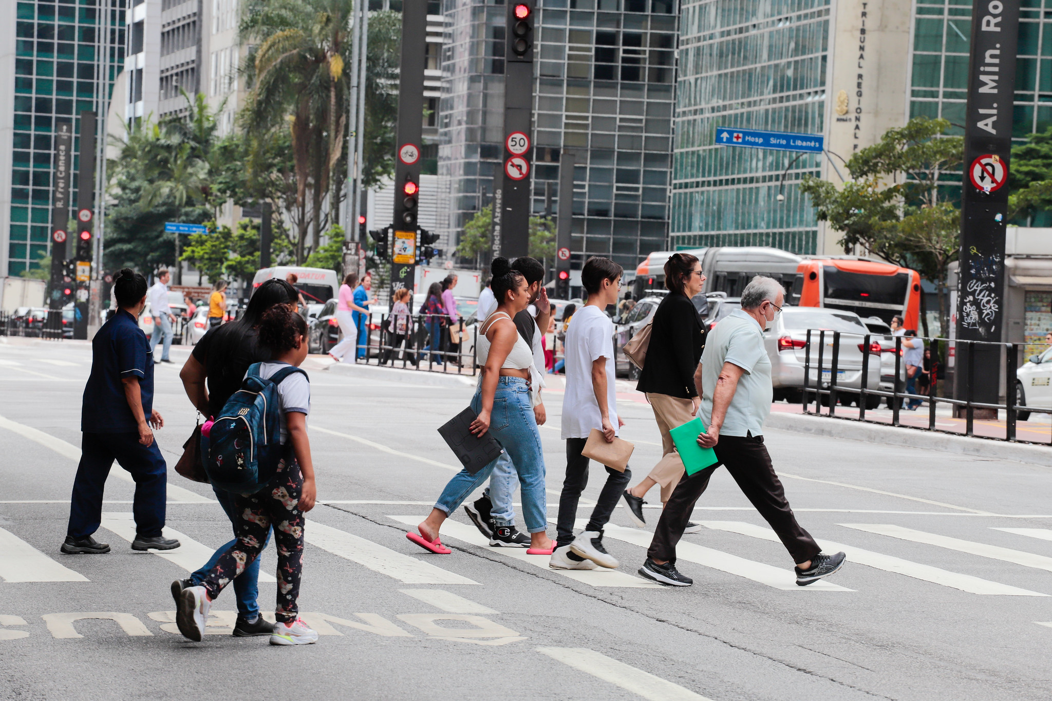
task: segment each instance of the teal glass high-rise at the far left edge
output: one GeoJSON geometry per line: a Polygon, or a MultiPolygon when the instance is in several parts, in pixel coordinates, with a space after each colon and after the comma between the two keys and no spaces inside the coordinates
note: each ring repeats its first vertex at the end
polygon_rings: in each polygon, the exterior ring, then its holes
{"type": "Polygon", "coordinates": [[[73,123],[77,202],[80,112],[99,114],[124,64],[125,0],[0,2],[0,274],[50,252],[55,123],[73,123]]]}

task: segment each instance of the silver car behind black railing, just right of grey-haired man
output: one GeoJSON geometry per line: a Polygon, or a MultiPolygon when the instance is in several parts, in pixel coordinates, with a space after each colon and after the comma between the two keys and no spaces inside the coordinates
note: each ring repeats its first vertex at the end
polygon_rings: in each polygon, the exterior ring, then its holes
{"type": "MultiPolygon", "coordinates": [[[[804,388],[804,365],[807,352],[807,330],[811,329],[811,362],[808,387],[814,389],[818,382],[818,343],[821,330],[826,330],[823,353],[822,388],[829,389],[832,379],[832,331],[841,332],[839,354],[836,360],[836,388],[842,392],[843,404],[857,403],[862,388],[863,341],[869,330],[857,314],[850,311],[832,311],[816,307],[786,307],[774,317],[771,328],[764,333],[767,355],[771,359],[771,379],[775,399],[800,400],[804,388]]],[[[870,362],[866,387],[878,389],[881,384],[881,344],[871,339],[870,362]]],[[[828,396],[823,396],[828,403],[828,396]]],[[[867,409],[875,409],[881,397],[867,397],[867,409]]]]}

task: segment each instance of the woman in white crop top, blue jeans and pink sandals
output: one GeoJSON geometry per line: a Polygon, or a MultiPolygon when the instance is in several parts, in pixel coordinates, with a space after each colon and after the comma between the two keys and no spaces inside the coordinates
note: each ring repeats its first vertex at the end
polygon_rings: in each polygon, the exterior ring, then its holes
{"type": "MultiPolygon", "coordinates": [[[[526,552],[550,555],[554,543],[547,534],[544,453],[533,413],[540,400],[540,373],[532,350],[512,322],[530,302],[529,285],[507,259],[493,259],[491,265],[492,290],[499,304],[479,328],[477,350],[484,369],[471,399],[471,409],[478,414],[471,432],[479,436],[491,432],[508,453],[522,483],[523,515],[531,544],[526,552]]],[[[439,537],[442,523],[490,476],[497,462],[473,475],[467,470],[458,472],[418,527],[420,534],[408,533],[406,537],[433,553],[449,554],[439,537]]]]}

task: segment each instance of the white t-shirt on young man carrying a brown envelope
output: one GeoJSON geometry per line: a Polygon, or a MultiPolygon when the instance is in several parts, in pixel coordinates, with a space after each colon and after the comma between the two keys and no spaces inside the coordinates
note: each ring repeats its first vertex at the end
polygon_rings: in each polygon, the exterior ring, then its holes
{"type": "Polygon", "coordinates": [[[566,330],[566,394],[563,396],[563,438],[587,438],[603,428],[603,415],[591,382],[592,363],[606,358],[606,406],[614,435],[618,429],[618,388],[613,362],[613,323],[599,307],[579,309],[566,330]]]}

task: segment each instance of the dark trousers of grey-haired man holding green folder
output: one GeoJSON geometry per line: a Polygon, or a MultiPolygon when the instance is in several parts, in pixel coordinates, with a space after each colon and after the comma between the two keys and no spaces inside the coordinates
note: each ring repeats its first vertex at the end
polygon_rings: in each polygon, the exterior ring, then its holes
{"type": "Polygon", "coordinates": [[[721,465],[727,468],[745,496],[774,529],[793,562],[806,562],[822,552],[814,538],[796,522],[796,517],[786,501],[782,481],[774,474],[763,436],[720,436],[714,450],[720,462],[695,472],[693,476],[683,473],[680,483],[675,486],[675,491],[662,511],[654,538],[647,551],[651,559],[675,562],[675,544],[683,537],[694,504],[709,486],[709,478],[721,465]]]}

